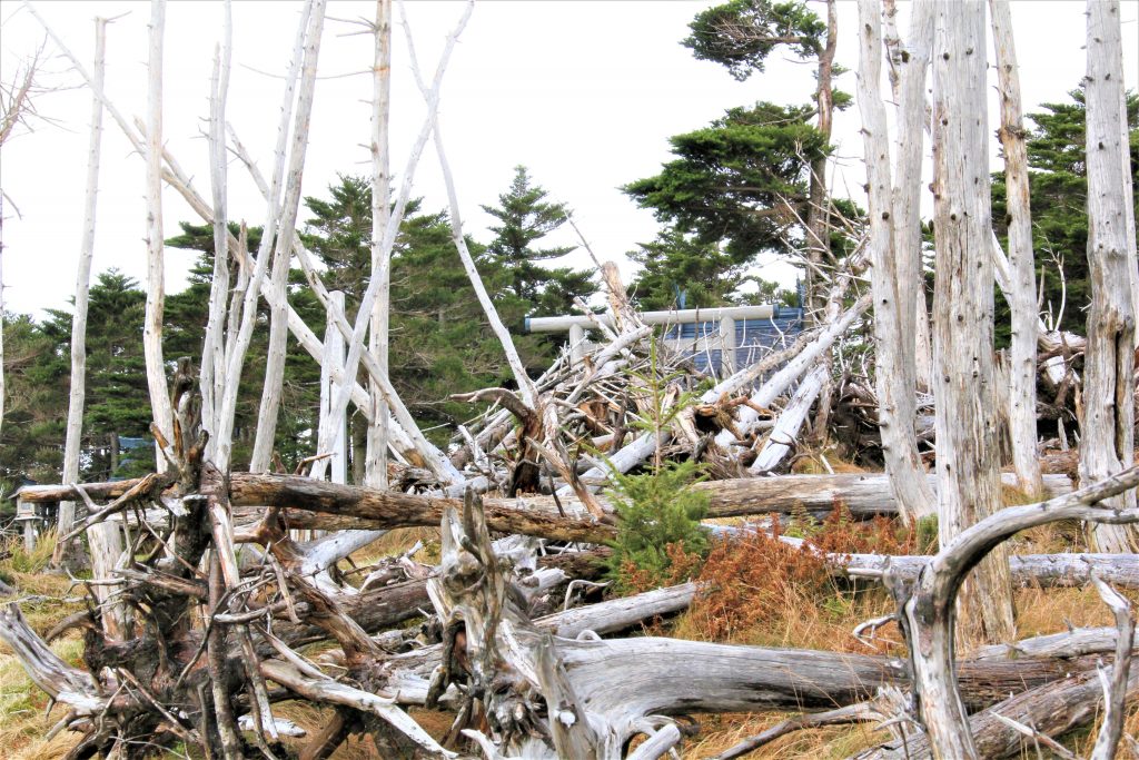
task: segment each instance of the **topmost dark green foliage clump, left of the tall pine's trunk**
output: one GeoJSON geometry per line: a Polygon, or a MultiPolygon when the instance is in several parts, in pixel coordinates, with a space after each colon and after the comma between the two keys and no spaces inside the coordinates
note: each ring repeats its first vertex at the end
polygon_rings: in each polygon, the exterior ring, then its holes
{"type": "Polygon", "coordinates": [[[822,50],[827,25],[802,2],[731,0],[698,14],[682,42],[699,60],[723,65],[738,81],[763,71],[767,57],[787,46],[800,58],[822,50]]]}

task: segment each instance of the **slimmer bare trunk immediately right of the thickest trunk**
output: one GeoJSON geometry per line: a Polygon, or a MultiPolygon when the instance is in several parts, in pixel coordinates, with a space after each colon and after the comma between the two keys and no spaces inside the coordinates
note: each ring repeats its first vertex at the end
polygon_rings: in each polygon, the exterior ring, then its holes
{"type": "Polygon", "coordinates": [[[1008,188],[1008,258],[1011,287],[1013,344],[1009,350],[1009,432],[1013,465],[1021,490],[1040,492],[1036,456],[1036,314],[1035,267],[1032,255],[1032,212],[1029,205],[1029,155],[1021,112],[1021,75],[1013,40],[1013,11],[1008,0],[990,0],[997,75],[1000,83],[1001,125],[1005,148],[1005,183],[1008,188]]]}

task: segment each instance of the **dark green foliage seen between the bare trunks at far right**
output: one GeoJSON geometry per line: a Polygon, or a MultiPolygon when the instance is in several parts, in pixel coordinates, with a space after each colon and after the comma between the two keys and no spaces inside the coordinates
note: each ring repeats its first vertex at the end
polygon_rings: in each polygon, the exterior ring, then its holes
{"type": "MultiPolygon", "coordinates": [[[[1083,93],[1073,90],[1071,103],[1046,103],[1029,114],[1034,124],[1027,139],[1029,191],[1038,287],[1043,283],[1046,311],[1059,316],[1063,328],[1083,334],[1082,309],[1091,303],[1088,269],[1088,172],[1083,93]],[[1059,271],[1058,271],[1059,270],[1059,271]],[[1063,273],[1063,284],[1062,277],[1063,273]]],[[[1131,179],[1139,212],[1139,96],[1128,95],[1131,179]]],[[[1003,167],[992,175],[993,227],[1007,244],[1008,205],[1003,167]]],[[[1137,213],[1139,216],[1139,213],[1137,213]]],[[[1008,345],[1009,310],[997,300],[998,346],[1008,345]]]]}

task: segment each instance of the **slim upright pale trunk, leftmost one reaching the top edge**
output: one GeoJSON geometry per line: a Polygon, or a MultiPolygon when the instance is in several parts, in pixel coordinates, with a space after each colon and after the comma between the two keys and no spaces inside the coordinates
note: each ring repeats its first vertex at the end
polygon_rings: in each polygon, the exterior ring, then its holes
{"type": "MultiPolygon", "coordinates": [[[[150,408],[158,431],[172,440],[173,410],[162,359],[162,313],[165,302],[164,239],[162,232],[162,42],[166,26],[166,1],[150,2],[150,51],[147,60],[146,202],[147,202],[147,294],[142,346],[150,408]]],[[[101,87],[100,87],[101,90],[101,87]]],[[[165,472],[162,447],[155,441],[155,466],[165,472]]]]}

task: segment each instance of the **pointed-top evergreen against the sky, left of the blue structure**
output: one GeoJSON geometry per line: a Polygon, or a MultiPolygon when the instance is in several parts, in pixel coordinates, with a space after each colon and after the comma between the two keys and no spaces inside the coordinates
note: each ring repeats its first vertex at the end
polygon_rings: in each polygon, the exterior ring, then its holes
{"type": "Polygon", "coordinates": [[[509,272],[507,287],[528,305],[526,313],[563,314],[570,312],[575,296],[590,295],[593,286],[589,272],[539,265],[538,262],[560,259],[575,250],[575,246],[534,245],[570,218],[564,203],[549,202],[548,197],[544,188],[533,183],[525,166],[515,166],[514,180],[499,196],[499,205],[483,206],[500,222],[490,228],[495,238],[486,246],[486,253],[495,267],[509,272]]]}

